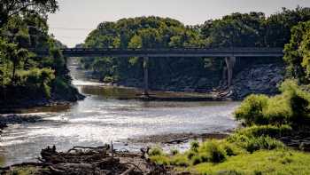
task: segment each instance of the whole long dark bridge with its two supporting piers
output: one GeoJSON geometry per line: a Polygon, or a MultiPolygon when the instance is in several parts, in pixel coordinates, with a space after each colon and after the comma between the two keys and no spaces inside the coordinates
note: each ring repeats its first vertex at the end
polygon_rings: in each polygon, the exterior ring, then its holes
{"type": "MultiPolygon", "coordinates": [[[[90,49],[90,48],[68,48],[61,49],[65,57],[142,57],[143,58],[143,79],[144,94],[149,90],[149,58],[194,58],[210,57],[225,58],[228,85],[231,84],[233,69],[236,63],[236,57],[244,58],[281,58],[283,57],[282,48],[172,48],[172,49],[90,49]]],[[[48,55],[49,51],[35,50],[38,55],[48,55]]]]}

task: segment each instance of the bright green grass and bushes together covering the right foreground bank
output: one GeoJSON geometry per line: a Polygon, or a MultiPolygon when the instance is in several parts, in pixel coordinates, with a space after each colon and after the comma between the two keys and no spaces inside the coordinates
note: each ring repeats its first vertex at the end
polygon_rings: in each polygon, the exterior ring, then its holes
{"type": "Polygon", "coordinates": [[[310,174],[310,153],[292,150],[277,140],[308,130],[310,93],[293,80],[285,81],[280,91],[274,97],[250,95],[244,99],[235,117],[246,128],[229,138],[194,141],[183,154],[174,151],[167,155],[154,149],[151,161],[205,175],[310,174]]]}

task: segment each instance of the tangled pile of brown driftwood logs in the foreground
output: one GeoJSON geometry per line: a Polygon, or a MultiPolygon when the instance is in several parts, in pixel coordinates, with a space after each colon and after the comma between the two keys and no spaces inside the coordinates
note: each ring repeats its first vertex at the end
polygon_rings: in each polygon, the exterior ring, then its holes
{"type": "Polygon", "coordinates": [[[157,175],[167,174],[163,166],[151,163],[149,147],[141,149],[142,154],[115,151],[112,146],[73,147],[66,152],[58,152],[56,147],[46,147],[41,151],[41,163],[19,163],[0,168],[1,174],[12,174],[15,167],[36,167],[35,174],[50,175],[157,175]]]}

